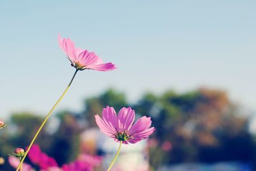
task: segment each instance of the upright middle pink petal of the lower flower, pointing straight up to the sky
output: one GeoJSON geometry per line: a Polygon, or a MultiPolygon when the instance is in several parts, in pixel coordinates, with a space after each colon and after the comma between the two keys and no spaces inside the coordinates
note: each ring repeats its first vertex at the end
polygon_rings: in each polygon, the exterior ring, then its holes
{"type": "Polygon", "coordinates": [[[135,118],[134,110],[123,107],[118,113],[118,128],[121,132],[127,131],[131,128],[135,118]]]}

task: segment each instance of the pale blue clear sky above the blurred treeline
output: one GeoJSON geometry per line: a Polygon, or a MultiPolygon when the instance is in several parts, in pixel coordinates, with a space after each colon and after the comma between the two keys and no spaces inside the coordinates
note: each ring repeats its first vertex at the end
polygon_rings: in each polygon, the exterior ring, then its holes
{"type": "Polygon", "coordinates": [[[46,115],[74,73],[58,34],[117,70],[81,71],[56,111],[109,87],[129,101],[210,87],[256,110],[256,1],[1,1],[0,118],[46,115]]]}

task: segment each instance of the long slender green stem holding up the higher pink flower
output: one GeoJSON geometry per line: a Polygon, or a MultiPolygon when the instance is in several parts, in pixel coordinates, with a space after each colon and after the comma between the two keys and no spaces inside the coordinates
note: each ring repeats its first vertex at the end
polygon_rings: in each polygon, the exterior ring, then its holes
{"type": "Polygon", "coordinates": [[[54,110],[54,109],[56,108],[56,106],[60,103],[60,101],[61,101],[61,99],[63,98],[63,96],[65,96],[65,94],[67,93],[67,91],[68,91],[70,85],[72,84],[72,82],[73,82],[73,80],[74,80],[74,78],[75,78],[75,76],[76,76],[77,71],[79,71],[79,70],[76,70],[76,72],[74,73],[73,77],[71,78],[71,80],[70,80],[70,82],[69,82],[67,88],[66,88],[65,91],[61,94],[59,100],[56,101],[56,103],[54,104],[54,106],[52,107],[52,109],[50,110],[50,112],[47,114],[47,116],[45,117],[45,119],[44,119],[43,123],[41,124],[40,128],[36,131],[36,134],[35,134],[35,136],[33,137],[33,139],[31,140],[31,143],[29,144],[28,149],[26,150],[26,152],[25,152],[25,154],[24,154],[22,160],[20,160],[20,164],[19,164],[18,168],[16,169],[16,171],[19,171],[19,168],[21,168],[21,165],[22,165],[23,161],[25,160],[25,158],[26,158],[26,156],[27,156],[29,150],[31,149],[31,146],[32,146],[33,143],[35,142],[36,137],[38,137],[38,134],[40,133],[40,131],[41,131],[42,128],[44,127],[45,123],[46,123],[47,120],[49,119],[49,117],[50,117],[50,115],[52,114],[53,110],[54,110]]]}

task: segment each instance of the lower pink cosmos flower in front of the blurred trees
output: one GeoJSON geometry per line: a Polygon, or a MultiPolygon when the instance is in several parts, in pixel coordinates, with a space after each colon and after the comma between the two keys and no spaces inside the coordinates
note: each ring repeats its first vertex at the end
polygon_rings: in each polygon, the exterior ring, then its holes
{"type": "Polygon", "coordinates": [[[116,115],[115,109],[107,106],[102,111],[102,119],[99,115],[95,115],[100,131],[124,144],[134,144],[146,139],[156,130],[154,127],[150,128],[152,123],[150,117],[143,116],[132,125],[134,118],[135,112],[131,107],[123,107],[116,115]]]}

